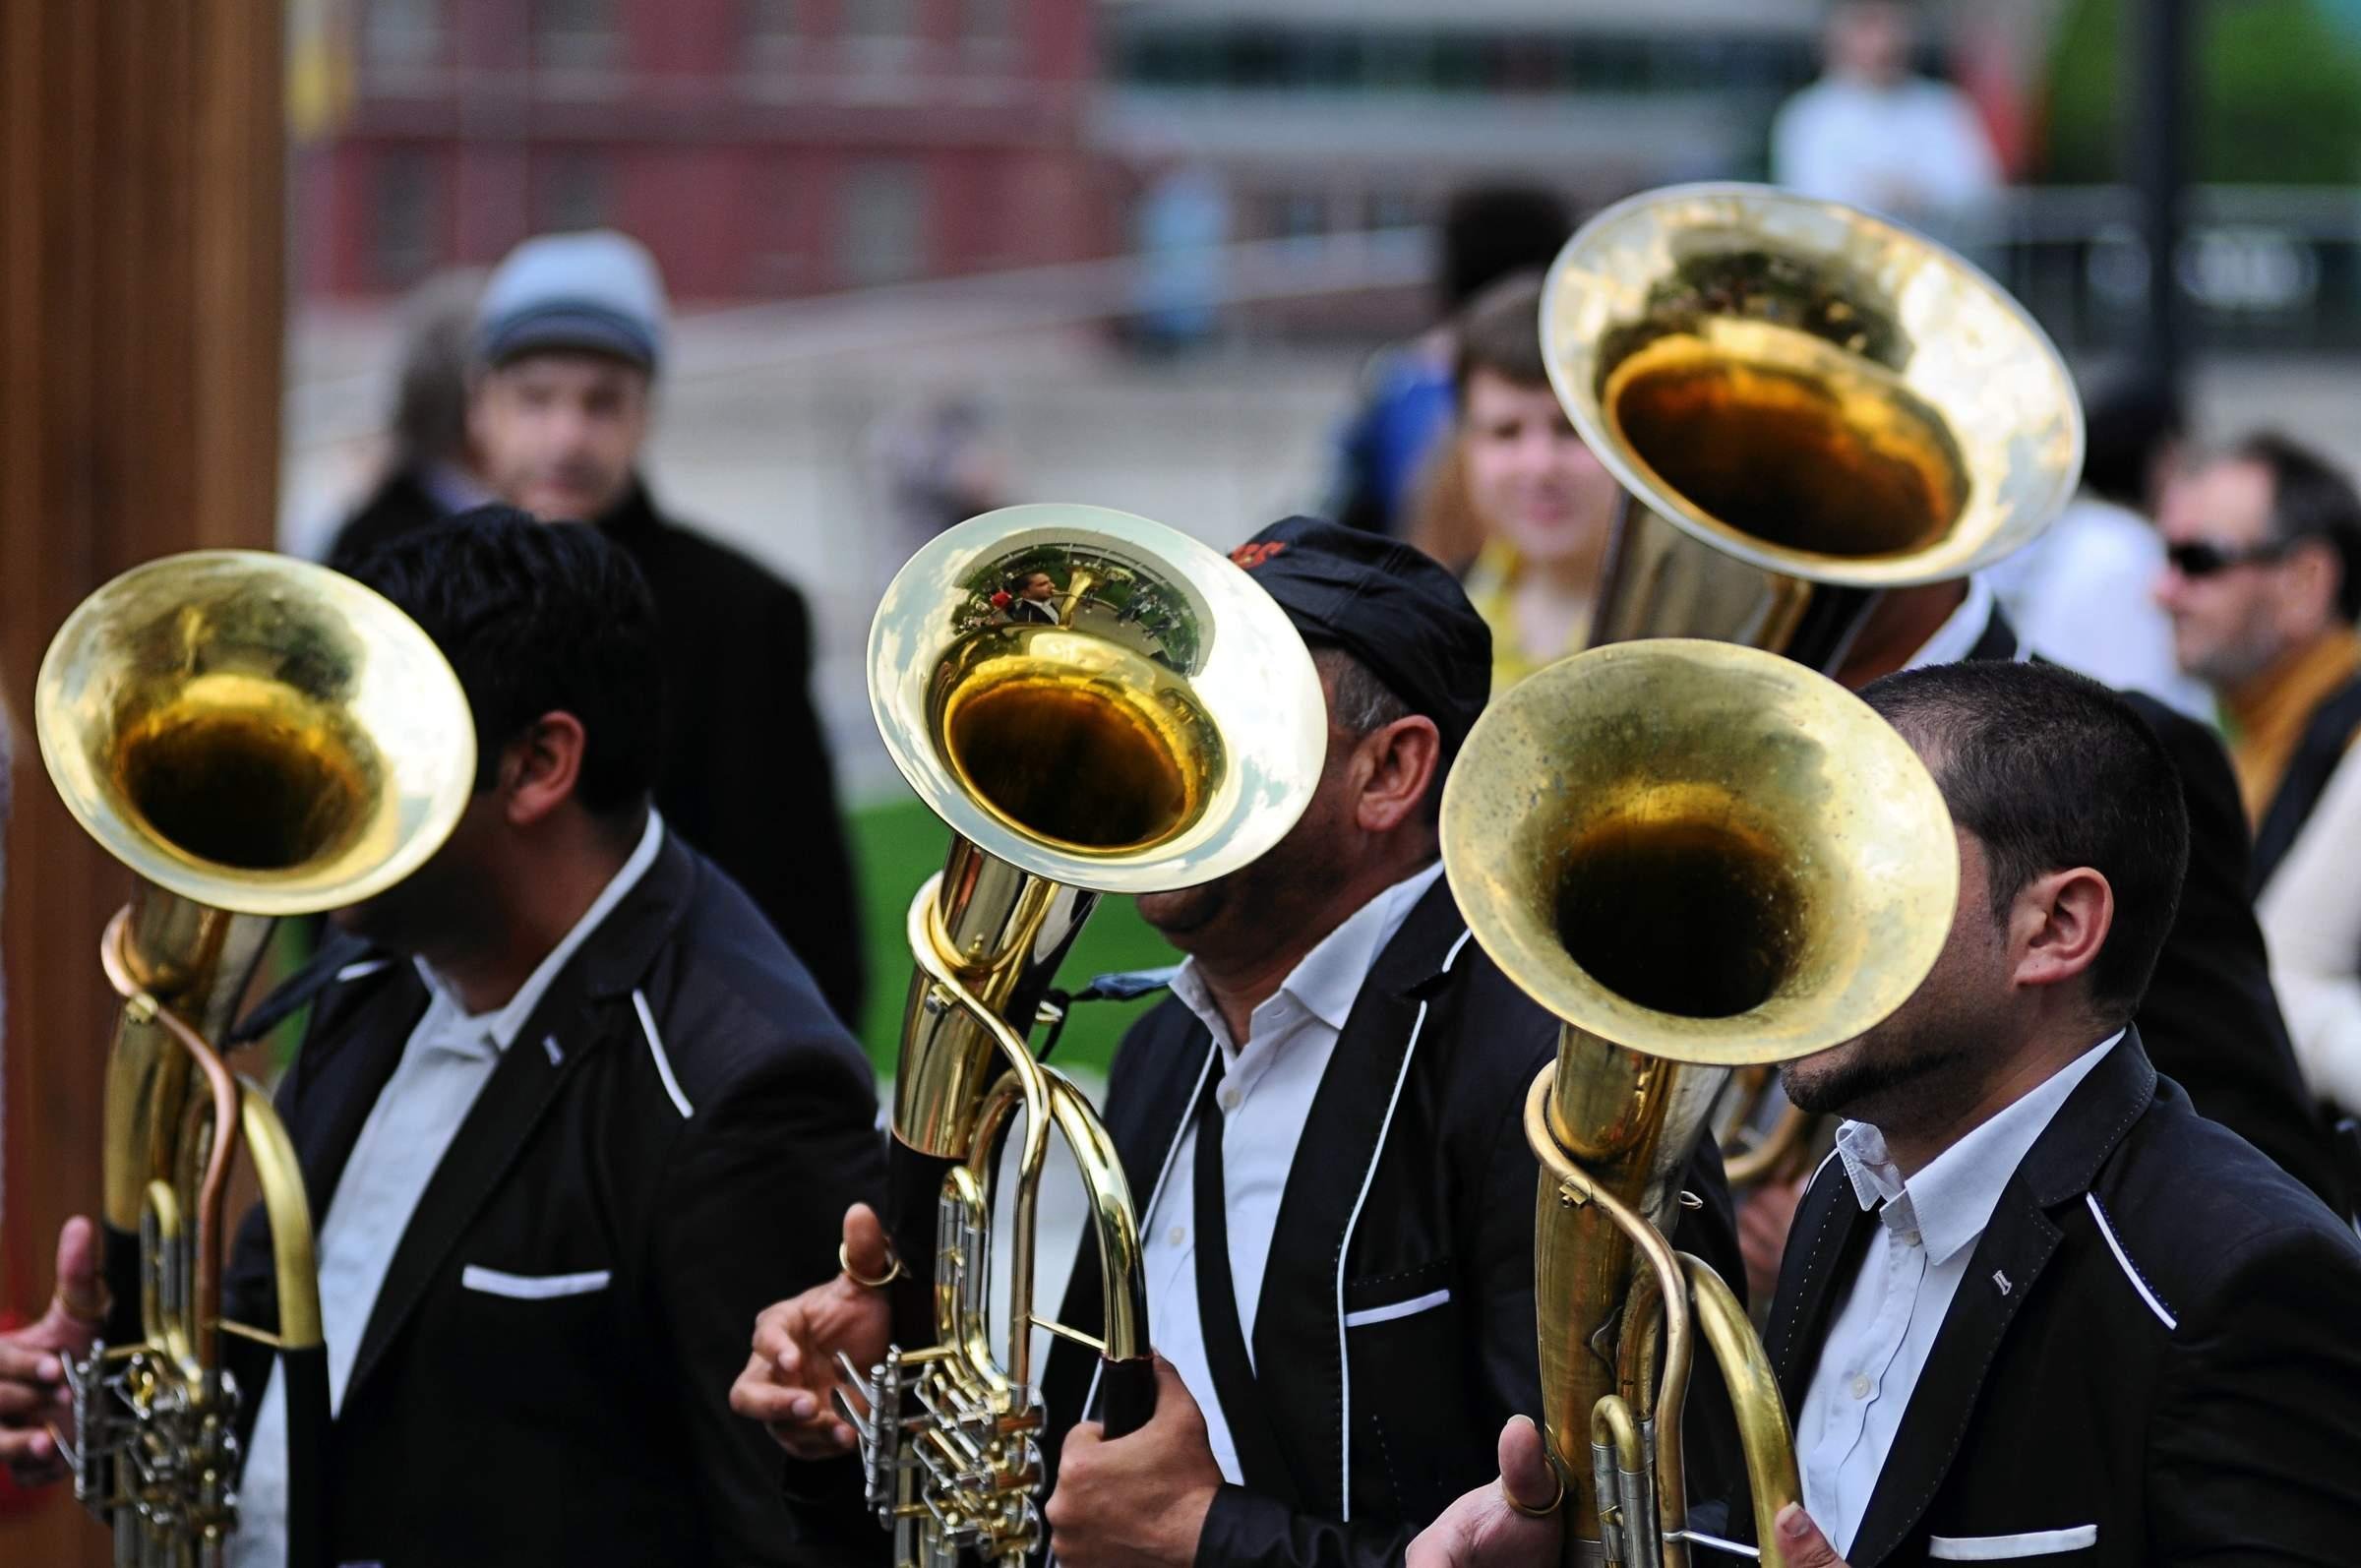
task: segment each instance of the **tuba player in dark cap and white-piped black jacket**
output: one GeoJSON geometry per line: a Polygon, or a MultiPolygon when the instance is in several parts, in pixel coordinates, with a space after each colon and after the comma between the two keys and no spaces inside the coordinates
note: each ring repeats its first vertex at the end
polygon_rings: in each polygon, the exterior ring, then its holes
{"type": "MultiPolygon", "coordinates": [[[[1490,690],[1483,621],[1435,562],[1355,529],[1291,517],[1237,560],[1313,647],[1327,765],[1258,862],[1138,900],[1188,954],[1107,1084],[1159,1391],[1155,1419],[1103,1438],[1074,1426],[1096,1358],[1053,1351],[1046,1516],[1067,1568],[1386,1563],[1542,1398],[1523,1103],[1558,1025],[1469,942],[1435,838],[1490,690]]],[[[1712,1141],[1683,1185],[1702,1207],[1681,1244],[1731,1270],[1712,1141]]],[[[933,1202],[892,1233],[928,1256],[933,1202]]],[[[866,1211],[845,1254],[888,1270],[866,1211]]],[[[1060,1318],[1098,1322],[1096,1268],[1060,1318]]],[[[885,1334],[888,1296],[852,1275],[784,1301],[737,1407],[791,1452],[841,1452],[833,1351],[866,1365],[885,1334]]],[[[1700,1419],[1693,1474],[1721,1474],[1728,1443],[1726,1415],[1700,1419]]]]}

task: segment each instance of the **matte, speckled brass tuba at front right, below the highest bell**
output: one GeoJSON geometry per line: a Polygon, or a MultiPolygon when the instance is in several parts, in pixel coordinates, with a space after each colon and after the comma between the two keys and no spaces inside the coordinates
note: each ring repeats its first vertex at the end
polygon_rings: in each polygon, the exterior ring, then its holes
{"type": "Polygon", "coordinates": [[[1877,1025],[1950,933],[1950,812],[1910,746],[1825,675],[1646,640],[1523,680],[1443,791],[1443,864],[1502,973],[1563,1025],[1525,1100],[1542,1162],[1544,1436],[1568,1563],[1688,1561],[1693,1337],[1731,1389],[1764,1563],[1799,1500],[1745,1311],[1676,1254],[1679,1174],[1731,1067],[1877,1025]]]}

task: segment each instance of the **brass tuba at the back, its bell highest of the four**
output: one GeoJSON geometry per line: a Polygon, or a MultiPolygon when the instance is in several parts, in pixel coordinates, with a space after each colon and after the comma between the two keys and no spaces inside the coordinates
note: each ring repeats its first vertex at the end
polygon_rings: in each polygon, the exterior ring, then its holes
{"type": "MultiPolygon", "coordinates": [[[[1834,671],[1886,588],[1967,576],[2073,496],[2066,361],[1993,279],[1901,224],[1690,184],[1587,222],[1542,290],[1542,357],[1622,486],[1591,647],[1714,638],[1834,671]]],[[[1811,1117],[1740,1070],[1733,1188],[1811,1117]]]]}

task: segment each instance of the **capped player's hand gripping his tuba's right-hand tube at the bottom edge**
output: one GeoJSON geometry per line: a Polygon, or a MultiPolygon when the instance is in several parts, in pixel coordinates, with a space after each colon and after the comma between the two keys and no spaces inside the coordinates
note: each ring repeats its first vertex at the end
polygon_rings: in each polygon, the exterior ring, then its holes
{"type": "Polygon", "coordinates": [[[1048,1547],[1065,1568],[1190,1568],[1221,1466],[1204,1412],[1157,1355],[1157,1412],[1124,1438],[1084,1422],[1065,1438],[1051,1492],[1048,1547]]]}

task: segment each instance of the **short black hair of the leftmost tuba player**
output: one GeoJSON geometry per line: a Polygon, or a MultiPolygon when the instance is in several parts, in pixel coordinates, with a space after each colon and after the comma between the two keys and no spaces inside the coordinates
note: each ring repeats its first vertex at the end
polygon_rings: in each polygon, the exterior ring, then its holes
{"type": "Polygon", "coordinates": [[[640,567],[593,527],[482,505],[399,534],[352,564],[418,621],[475,708],[477,789],[543,713],[583,725],[574,798],[637,817],[663,758],[663,659],[640,567]]]}

